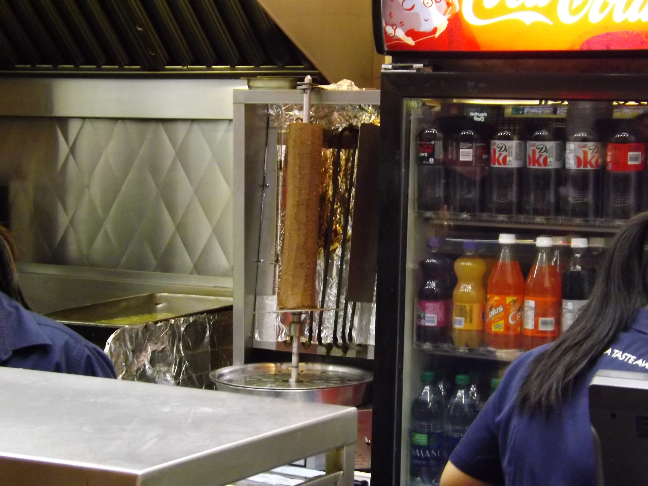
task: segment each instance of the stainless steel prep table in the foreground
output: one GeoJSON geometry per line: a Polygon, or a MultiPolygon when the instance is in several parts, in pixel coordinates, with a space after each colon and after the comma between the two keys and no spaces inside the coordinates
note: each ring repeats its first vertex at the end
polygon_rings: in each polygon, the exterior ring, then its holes
{"type": "Polygon", "coordinates": [[[357,410],[0,367],[0,478],[23,486],[218,486],[325,451],[353,485],[357,410]]]}

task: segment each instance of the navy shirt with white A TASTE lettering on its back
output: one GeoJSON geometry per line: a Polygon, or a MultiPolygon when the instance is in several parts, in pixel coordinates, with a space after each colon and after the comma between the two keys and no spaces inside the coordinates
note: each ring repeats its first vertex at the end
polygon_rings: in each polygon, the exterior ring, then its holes
{"type": "Polygon", "coordinates": [[[648,310],[641,308],[572,397],[548,419],[523,415],[515,401],[529,364],[546,346],[522,354],[459,441],[450,461],[469,476],[506,486],[595,486],[588,385],[599,369],[648,373],[648,310]]]}

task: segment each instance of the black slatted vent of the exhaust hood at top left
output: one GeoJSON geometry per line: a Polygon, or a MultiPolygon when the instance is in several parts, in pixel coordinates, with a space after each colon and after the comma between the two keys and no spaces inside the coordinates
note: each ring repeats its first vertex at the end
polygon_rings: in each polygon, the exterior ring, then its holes
{"type": "Polygon", "coordinates": [[[256,0],[0,0],[0,66],[312,72],[256,0]]]}

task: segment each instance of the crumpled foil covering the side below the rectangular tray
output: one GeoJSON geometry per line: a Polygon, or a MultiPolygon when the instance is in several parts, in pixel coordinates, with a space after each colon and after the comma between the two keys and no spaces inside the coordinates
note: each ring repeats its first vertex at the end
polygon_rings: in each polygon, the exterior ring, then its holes
{"type": "Polygon", "coordinates": [[[117,378],[209,388],[209,373],[232,364],[232,311],[124,326],[106,342],[117,378]]]}

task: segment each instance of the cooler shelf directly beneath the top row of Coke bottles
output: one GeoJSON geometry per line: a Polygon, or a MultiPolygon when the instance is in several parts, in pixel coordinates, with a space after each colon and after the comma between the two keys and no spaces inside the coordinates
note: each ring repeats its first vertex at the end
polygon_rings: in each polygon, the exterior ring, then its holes
{"type": "Polygon", "coordinates": [[[514,229],[543,229],[556,231],[585,231],[587,233],[616,233],[625,220],[596,218],[584,220],[564,216],[498,216],[495,214],[453,214],[434,211],[417,211],[432,224],[472,227],[501,227],[514,229]]]}

